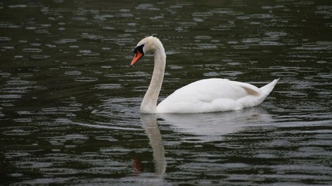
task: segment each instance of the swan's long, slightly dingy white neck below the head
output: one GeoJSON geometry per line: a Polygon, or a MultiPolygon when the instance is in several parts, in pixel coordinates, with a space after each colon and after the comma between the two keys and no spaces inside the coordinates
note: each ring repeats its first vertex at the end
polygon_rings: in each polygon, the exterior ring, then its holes
{"type": "Polygon", "coordinates": [[[148,91],[146,91],[146,95],[144,96],[141,104],[141,113],[157,112],[157,101],[166,65],[166,54],[162,45],[158,47],[158,49],[155,49],[154,56],[155,67],[153,68],[153,74],[148,91]]]}

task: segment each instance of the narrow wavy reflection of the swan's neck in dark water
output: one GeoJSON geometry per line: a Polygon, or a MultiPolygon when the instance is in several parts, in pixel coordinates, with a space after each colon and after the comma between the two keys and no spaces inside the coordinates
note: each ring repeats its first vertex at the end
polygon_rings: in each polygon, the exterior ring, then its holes
{"type": "Polygon", "coordinates": [[[141,113],[141,121],[143,123],[143,128],[148,135],[150,146],[153,149],[155,176],[162,179],[166,171],[166,159],[162,136],[157,125],[157,116],[155,114],[141,113]]]}

